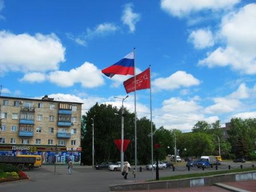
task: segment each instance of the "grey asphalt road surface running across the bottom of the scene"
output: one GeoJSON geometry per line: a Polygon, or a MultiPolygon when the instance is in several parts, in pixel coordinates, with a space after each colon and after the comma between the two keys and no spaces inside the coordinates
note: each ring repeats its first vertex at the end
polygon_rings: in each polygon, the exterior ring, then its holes
{"type": "MultiPolygon", "coordinates": [[[[251,167],[252,163],[222,163],[219,166],[219,170],[227,170],[227,166],[230,165],[235,169],[240,169],[240,165],[243,167],[251,167]]],[[[254,163],[256,166],[256,163],[254,163]]],[[[139,166],[138,166],[139,167],[139,166]]],[[[146,179],[151,179],[151,170],[145,170],[145,166],[142,166],[143,170],[137,174],[137,182],[144,182],[146,179]]],[[[215,171],[215,169],[206,169],[202,171],[197,168],[191,171],[185,170],[185,167],[178,167],[179,171],[173,171],[172,169],[159,170],[159,177],[165,177],[170,175],[199,173],[206,171],[215,171]]],[[[67,166],[56,166],[56,173],[54,172],[53,165],[43,165],[39,169],[25,170],[30,177],[29,180],[1,183],[0,191],[5,192],[65,192],[65,191],[109,191],[109,185],[120,183],[133,183],[133,175],[128,174],[128,179],[123,179],[121,173],[118,171],[109,170],[95,170],[88,166],[74,166],[73,173],[68,174],[67,166]]],[[[155,171],[153,177],[155,178],[155,171]]]]}

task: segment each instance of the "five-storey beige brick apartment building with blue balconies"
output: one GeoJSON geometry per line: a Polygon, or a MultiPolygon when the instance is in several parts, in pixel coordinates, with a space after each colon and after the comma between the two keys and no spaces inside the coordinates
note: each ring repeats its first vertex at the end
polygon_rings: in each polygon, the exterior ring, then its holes
{"type": "Polygon", "coordinates": [[[0,97],[0,155],[39,154],[45,164],[57,159],[81,162],[82,103],[0,97]]]}

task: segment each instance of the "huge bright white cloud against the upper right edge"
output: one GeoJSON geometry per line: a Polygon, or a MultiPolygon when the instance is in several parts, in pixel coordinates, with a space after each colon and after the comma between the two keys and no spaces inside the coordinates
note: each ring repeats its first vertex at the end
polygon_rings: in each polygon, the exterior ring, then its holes
{"type": "Polygon", "coordinates": [[[222,19],[219,36],[226,40],[226,47],[218,47],[199,65],[230,66],[245,74],[256,74],[256,4],[242,7],[237,13],[222,19]]]}

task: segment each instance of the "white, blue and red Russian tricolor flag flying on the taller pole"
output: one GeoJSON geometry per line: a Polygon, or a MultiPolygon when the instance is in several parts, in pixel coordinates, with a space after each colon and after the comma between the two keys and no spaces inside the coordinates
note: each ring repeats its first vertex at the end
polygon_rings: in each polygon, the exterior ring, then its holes
{"type": "Polygon", "coordinates": [[[134,52],[129,53],[120,61],[101,70],[107,77],[113,77],[114,75],[134,75],[134,52]]]}

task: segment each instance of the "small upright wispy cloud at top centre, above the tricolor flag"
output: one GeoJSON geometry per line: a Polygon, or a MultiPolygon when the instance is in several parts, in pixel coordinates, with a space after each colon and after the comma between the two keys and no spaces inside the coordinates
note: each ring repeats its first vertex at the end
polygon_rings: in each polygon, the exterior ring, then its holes
{"type": "Polygon", "coordinates": [[[133,3],[127,3],[125,9],[123,10],[122,22],[129,26],[130,32],[134,33],[135,24],[141,20],[141,15],[133,12],[133,3]]]}

